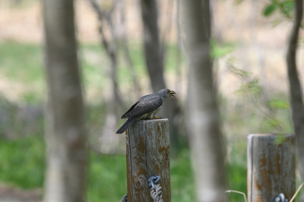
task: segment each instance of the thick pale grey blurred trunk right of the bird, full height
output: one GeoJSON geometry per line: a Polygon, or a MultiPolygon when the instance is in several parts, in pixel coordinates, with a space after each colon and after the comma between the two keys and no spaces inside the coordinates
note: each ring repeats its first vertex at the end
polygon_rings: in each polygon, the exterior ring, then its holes
{"type": "Polygon", "coordinates": [[[199,202],[226,201],[219,110],[210,59],[209,0],[181,1],[189,62],[187,120],[199,202]]]}

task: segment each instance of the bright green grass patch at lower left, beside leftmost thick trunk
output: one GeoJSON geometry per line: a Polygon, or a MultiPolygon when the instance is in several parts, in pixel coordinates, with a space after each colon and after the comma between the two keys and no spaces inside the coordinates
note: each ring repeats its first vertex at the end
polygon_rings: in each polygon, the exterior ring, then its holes
{"type": "Polygon", "coordinates": [[[41,136],[0,139],[0,181],[29,189],[42,187],[45,145],[41,136]]]}

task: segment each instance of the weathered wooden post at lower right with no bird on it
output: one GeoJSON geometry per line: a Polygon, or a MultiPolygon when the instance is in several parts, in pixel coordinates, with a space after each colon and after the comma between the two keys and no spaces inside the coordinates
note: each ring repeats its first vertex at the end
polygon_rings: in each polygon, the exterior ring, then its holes
{"type": "Polygon", "coordinates": [[[273,201],[295,193],[295,134],[250,134],[247,137],[248,202],[273,201]]]}

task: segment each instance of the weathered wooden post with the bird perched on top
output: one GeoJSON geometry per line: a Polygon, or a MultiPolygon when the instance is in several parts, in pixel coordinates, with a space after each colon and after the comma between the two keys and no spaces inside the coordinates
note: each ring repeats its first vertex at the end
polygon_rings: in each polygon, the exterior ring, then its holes
{"type": "Polygon", "coordinates": [[[153,202],[148,178],[161,176],[164,202],[171,202],[169,121],[136,121],[126,131],[129,202],[153,202]]]}

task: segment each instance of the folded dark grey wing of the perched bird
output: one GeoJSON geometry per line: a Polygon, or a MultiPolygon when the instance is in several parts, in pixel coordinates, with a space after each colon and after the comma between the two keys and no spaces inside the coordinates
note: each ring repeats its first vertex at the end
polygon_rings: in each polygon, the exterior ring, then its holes
{"type": "Polygon", "coordinates": [[[137,116],[148,111],[153,111],[163,104],[163,99],[159,95],[147,96],[137,101],[121,118],[137,116]]]}

